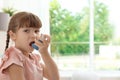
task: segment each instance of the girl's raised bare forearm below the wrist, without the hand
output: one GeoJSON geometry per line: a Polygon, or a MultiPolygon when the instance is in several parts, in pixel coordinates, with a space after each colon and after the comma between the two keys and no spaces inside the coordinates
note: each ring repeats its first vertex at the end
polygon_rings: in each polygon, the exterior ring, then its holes
{"type": "Polygon", "coordinates": [[[48,72],[47,74],[48,74],[49,80],[59,80],[59,71],[58,71],[57,65],[51,58],[50,54],[46,52],[41,55],[48,72]]]}

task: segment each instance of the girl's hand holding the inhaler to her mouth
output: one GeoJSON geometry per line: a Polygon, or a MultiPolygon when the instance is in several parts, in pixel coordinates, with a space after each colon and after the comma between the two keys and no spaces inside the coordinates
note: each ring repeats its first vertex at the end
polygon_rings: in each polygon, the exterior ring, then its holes
{"type": "Polygon", "coordinates": [[[50,36],[47,34],[41,34],[40,36],[37,36],[37,40],[35,41],[35,44],[39,47],[39,51],[41,54],[48,53],[50,36]]]}

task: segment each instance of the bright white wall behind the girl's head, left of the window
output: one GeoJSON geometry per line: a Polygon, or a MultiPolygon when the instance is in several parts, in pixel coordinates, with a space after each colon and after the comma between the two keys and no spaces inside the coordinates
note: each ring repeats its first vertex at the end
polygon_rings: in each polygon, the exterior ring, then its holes
{"type": "Polygon", "coordinates": [[[1,8],[12,7],[18,11],[29,11],[40,17],[43,23],[42,32],[49,31],[49,1],[48,0],[1,0],[1,8]],[[2,2],[3,1],[3,2],[2,2]]]}

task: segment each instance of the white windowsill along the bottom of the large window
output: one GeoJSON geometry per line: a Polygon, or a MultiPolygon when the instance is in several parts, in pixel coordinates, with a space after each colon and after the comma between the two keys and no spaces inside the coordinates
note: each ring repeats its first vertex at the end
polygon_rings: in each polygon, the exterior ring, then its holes
{"type": "MultiPolygon", "coordinates": [[[[75,71],[68,71],[68,70],[64,70],[64,71],[60,71],[60,80],[71,80],[72,79],[72,75],[73,73],[76,72],[75,71]]],[[[89,73],[90,71],[77,71],[77,72],[81,72],[81,73],[89,73]]],[[[99,76],[100,80],[120,80],[120,71],[94,71],[94,73],[96,73],[96,75],[99,76]]]]}

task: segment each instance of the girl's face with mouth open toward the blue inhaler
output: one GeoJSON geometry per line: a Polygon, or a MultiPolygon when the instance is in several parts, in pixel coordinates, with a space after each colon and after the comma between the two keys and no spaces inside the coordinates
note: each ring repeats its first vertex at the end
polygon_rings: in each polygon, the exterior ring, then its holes
{"type": "Polygon", "coordinates": [[[20,28],[16,33],[14,33],[15,46],[24,53],[29,53],[33,51],[30,43],[35,41],[37,36],[40,35],[39,28],[20,28]]]}

